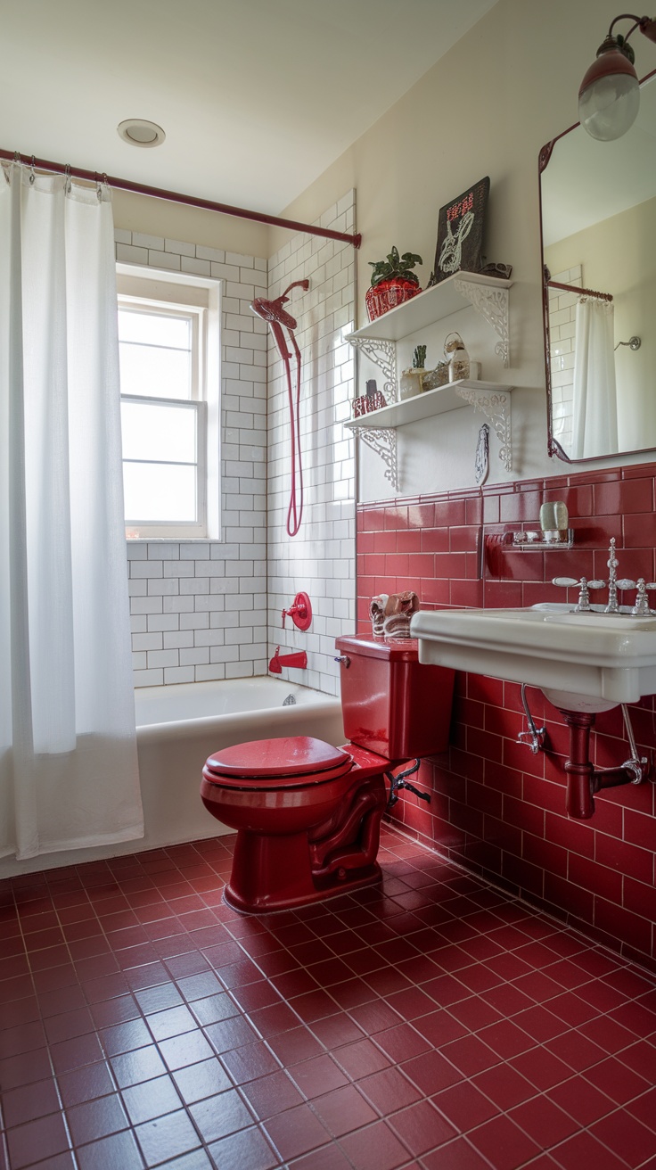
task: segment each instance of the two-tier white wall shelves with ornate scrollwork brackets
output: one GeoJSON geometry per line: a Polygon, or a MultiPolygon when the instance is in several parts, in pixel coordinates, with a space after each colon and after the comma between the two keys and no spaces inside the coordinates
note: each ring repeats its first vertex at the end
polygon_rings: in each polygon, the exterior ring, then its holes
{"type": "Polygon", "coordinates": [[[511,386],[490,381],[458,381],[439,386],[399,401],[396,342],[434,325],[465,308],[464,301],[479,312],[499,340],[495,352],[504,367],[510,364],[509,296],[512,281],[483,276],[481,273],[455,273],[431,288],[417,292],[410,301],[396,305],[348,333],[346,340],[365,353],[384,376],[382,393],[387,406],[351,419],[345,426],[361,438],[386,464],[385,476],[399,490],[396,462],[396,427],[417,422],[436,414],[474,406],[490,419],[500,441],[499,459],[506,470],[512,467],[510,399],[511,386]]]}

